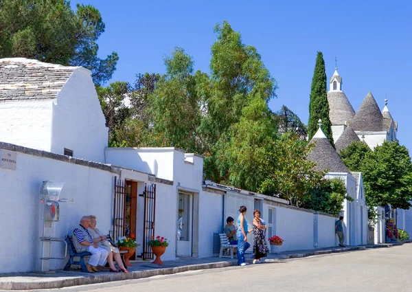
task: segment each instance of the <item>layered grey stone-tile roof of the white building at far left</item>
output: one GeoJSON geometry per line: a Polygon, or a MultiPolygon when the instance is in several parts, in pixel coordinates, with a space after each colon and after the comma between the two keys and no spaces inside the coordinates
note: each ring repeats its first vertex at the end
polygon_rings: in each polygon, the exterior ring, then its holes
{"type": "Polygon", "coordinates": [[[77,68],[26,58],[0,59],[0,102],[56,98],[77,68]]]}

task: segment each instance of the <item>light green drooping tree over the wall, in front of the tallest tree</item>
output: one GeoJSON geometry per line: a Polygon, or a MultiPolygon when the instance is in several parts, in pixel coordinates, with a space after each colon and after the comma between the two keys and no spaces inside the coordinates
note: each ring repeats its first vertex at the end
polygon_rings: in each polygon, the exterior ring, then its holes
{"type": "Polygon", "coordinates": [[[228,136],[216,145],[220,182],[258,191],[267,177],[268,153],[273,153],[277,139],[277,126],[266,102],[255,98],[244,106],[240,121],[229,128],[228,136]]]}

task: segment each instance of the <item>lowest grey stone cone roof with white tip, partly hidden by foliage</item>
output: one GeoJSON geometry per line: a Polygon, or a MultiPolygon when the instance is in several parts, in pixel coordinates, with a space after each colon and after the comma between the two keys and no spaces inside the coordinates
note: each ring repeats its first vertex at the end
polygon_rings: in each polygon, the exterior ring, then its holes
{"type": "Polygon", "coordinates": [[[315,143],[313,150],[308,154],[308,159],[316,164],[315,170],[328,172],[347,172],[347,169],[343,163],[341,157],[339,157],[336,150],[334,150],[332,144],[330,144],[328,138],[323,134],[321,128],[310,140],[309,144],[315,143]]]}

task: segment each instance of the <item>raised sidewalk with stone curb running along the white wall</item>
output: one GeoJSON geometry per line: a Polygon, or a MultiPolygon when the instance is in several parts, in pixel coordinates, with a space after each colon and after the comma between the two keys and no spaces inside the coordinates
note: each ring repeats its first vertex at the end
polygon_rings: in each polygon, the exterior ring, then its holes
{"type": "MultiPolygon", "coordinates": [[[[410,243],[412,240],[408,240],[410,243]]],[[[356,247],[330,247],[325,249],[310,249],[302,251],[284,251],[280,254],[269,254],[265,262],[277,262],[288,258],[304,258],[322,254],[341,253],[346,251],[361,251],[378,247],[392,247],[397,243],[381,245],[362,245],[356,247]]],[[[247,254],[247,261],[251,263],[251,254],[247,254]]],[[[236,265],[236,258],[179,258],[178,260],[165,261],[164,265],[152,265],[151,262],[135,262],[133,267],[128,268],[129,273],[82,273],[78,271],[56,271],[56,273],[7,273],[0,275],[0,289],[2,290],[34,290],[34,289],[56,289],[85,284],[102,282],[113,282],[120,280],[131,280],[148,278],[158,275],[170,275],[184,271],[199,269],[215,269],[231,267],[236,265]]]]}

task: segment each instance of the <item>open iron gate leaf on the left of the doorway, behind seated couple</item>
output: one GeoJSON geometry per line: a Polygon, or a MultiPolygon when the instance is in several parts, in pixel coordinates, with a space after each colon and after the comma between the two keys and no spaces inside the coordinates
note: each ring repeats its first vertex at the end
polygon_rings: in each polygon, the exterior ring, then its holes
{"type": "Polygon", "coordinates": [[[113,240],[124,236],[124,212],[126,202],[126,186],[124,181],[115,177],[115,194],[113,204],[113,240]]]}

